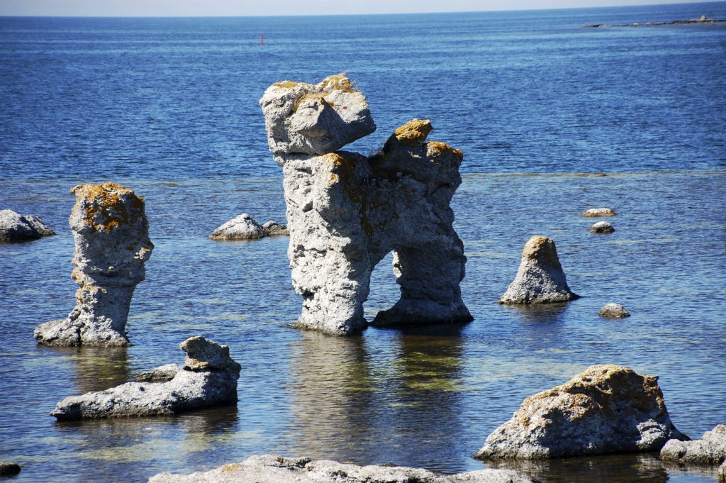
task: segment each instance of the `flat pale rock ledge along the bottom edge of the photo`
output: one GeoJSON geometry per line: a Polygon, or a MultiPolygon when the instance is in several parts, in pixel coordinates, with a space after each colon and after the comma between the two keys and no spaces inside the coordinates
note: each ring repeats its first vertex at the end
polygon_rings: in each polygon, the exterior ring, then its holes
{"type": "Polygon", "coordinates": [[[486,469],[440,475],[403,466],[357,466],[332,460],[251,456],[211,471],[187,475],[161,473],[149,483],[531,483],[516,471],[486,469]]]}

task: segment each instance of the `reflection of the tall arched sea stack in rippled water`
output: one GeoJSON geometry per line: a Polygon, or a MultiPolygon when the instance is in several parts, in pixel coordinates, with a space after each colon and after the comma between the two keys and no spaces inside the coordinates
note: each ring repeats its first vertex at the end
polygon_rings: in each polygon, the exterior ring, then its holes
{"type": "Polygon", "coordinates": [[[386,330],[391,344],[305,332],[292,344],[294,452],[437,469],[468,458],[461,434],[460,327],[386,330]],[[393,350],[391,350],[393,346],[393,350]],[[412,445],[411,442],[416,444],[412,445]],[[351,458],[351,455],[355,455],[351,458]]]}

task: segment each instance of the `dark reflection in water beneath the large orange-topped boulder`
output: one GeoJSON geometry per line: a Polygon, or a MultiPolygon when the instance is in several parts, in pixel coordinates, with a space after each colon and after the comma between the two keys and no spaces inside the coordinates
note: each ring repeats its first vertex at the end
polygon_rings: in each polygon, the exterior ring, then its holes
{"type": "Polygon", "coordinates": [[[668,473],[655,454],[608,455],[593,458],[487,461],[489,468],[521,471],[547,483],[665,483],[668,473]]]}

